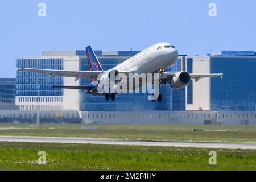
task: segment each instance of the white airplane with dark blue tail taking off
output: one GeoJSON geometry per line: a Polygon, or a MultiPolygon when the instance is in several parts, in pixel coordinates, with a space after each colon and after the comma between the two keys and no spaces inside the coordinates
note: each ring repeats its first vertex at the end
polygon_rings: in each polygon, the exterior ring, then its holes
{"type": "MultiPolygon", "coordinates": [[[[167,68],[170,68],[177,60],[179,53],[177,49],[170,43],[157,43],[151,47],[144,49],[144,51],[117,65],[116,67],[104,71],[98,61],[91,46],[86,47],[86,56],[88,59],[89,71],[65,71],[65,70],[49,70],[49,69],[30,69],[20,68],[18,71],[24,72],[36,72],[49,75],[49,78],[53,76],[73,77],[75,81],[80,78],[90,78],[92,82],[87,86],[54,86],[53,88],[61,89],[78,89],[86,90],[86,94],[92,96],[105,96],[105,100],[115,100],[117,93],[99,93],[98,85],[106,80],[110,80],[110,73],[114,73],[117,76],[119,73],[129,75],[131,73],[152,73],[159,74],[160,84],[170,84],[171,88],[182,89],[189,84],[191,80],[196,82],[205,77],[221,77],[223,73],[218,74],[190,74],[185,71],[177,73],[166,72],[167,68]],[[100,77],[99,77],[100,76],[100,77]],[[96,80],[97,78],[97,80],[96,80]]],[[[121,80],[113,80],[115,84],[121,80]]],[[[140,88],[141,83],[135,83],[134,89],[140,88]]],[[[162,94],[159,94],[156,99],[161,102],[163,99],[162,94]]],[[[152,100],[155,102],[156,100],[152,100]]]]}

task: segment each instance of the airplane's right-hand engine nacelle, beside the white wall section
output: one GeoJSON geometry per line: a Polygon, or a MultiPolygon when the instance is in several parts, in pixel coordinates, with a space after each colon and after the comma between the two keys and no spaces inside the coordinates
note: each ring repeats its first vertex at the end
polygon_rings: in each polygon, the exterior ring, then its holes
{"type": "Polygon", "coordinates": [[[182,89],[189,84],[191,76],[188,72],[179,72],[171,80],[171,86],[176,89],[182,89]]]}

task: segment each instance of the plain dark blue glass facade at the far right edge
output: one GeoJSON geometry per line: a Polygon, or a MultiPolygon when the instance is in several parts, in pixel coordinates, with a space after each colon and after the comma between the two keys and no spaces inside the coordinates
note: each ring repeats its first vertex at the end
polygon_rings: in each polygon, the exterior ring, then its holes
{"type": "Polygon", "coordinates": [[[256,56],[211,56],[212,110],[256,110],[256,56]]]}

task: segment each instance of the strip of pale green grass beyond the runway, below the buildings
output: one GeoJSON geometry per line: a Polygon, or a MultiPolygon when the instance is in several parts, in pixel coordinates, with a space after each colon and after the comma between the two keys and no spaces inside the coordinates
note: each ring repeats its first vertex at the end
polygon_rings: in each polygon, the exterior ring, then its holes
{"type": "Polygon", "coordinates": [[[128,140],[166,140],[193,142],[256,142],[256,126],[230,125],[98,125],[98,130],[81,130],[84,125],[40,125],[29,129],[26,124],[0,124],[0,135],[42,137],[88,137],[128,140]],[[203,129],[204,131],[192,131],[203,129]]]}

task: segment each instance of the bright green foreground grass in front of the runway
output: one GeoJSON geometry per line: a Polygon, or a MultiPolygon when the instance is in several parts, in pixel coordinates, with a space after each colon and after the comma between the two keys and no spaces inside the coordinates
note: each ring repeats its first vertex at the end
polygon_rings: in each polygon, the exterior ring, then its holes
{"type": "Polygon", "coordinates": [[[0,170],[256,170],[255,150],[105,146],[97,144],[0,143],[0,170]],[[38,152],[46,152],[46,165],[38,152]]]}

